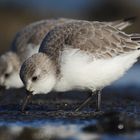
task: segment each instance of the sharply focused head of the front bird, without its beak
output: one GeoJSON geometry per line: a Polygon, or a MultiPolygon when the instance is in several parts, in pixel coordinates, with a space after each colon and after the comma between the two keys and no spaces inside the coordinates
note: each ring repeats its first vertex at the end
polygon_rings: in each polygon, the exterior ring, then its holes
{"type": "Polygon", "coordinates": [[[20,70],[20,77],[27,91],[32,94],[48,93],[56,83],[56,71],[52,60],[44,53],[28,58],[20,70]]]}

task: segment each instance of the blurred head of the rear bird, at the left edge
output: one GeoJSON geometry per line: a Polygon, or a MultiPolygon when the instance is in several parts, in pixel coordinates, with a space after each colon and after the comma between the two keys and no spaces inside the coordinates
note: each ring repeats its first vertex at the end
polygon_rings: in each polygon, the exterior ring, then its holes
{"type": "Polygon", "coordinates": [[[20,59],[17,54],[7,52],[0,57],[0,86],[20,88],[23,86],[19,77],[20,59]]]}

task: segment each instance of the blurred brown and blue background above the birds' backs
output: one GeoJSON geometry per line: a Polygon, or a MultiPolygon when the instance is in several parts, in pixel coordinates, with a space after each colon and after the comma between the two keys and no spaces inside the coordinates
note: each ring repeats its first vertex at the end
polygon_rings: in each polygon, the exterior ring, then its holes
{"type": "Polygon", "coordinates": [[[49,18],[67,17],[110,21],[137,16],[127,32],[140,32],[140,0],[0,0],[0,53],[25,25],[49,18]]]}

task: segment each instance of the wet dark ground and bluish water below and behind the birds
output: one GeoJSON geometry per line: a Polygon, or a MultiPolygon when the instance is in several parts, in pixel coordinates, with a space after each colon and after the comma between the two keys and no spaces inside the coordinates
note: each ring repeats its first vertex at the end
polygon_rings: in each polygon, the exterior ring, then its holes
{"type": "Polygon", "coordinates": [[[93,140],[93,137],[128,140],[130,135],[131,140],[137,140],[140,138],[140,86],[139,77],[135,76],[138,73],[139,67],[134,68],[103,90],[101,112],[95,112],[96,96],[75,112],[90,92],[71,91],[35,95],[26,113],[21,113],[24,88],[0,89],[0,140],[93,140]]]}

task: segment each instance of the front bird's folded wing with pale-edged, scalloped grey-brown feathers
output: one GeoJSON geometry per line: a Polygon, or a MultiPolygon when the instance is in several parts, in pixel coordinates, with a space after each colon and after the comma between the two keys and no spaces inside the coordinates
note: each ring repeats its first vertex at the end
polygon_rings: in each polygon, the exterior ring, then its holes
{"type": "Polygon", "coordinates": [[[92,53],[95,58],[114,57],[140,47],[131,36],[101,22],[81,26],[71,43],[74,48],[92,53]]]}

